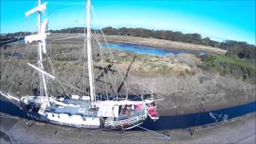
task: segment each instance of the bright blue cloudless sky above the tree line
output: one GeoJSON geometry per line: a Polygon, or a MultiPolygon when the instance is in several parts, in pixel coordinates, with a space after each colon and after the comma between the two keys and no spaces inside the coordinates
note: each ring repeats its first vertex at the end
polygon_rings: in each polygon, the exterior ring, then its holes
{"type": "MultiPolygon", "coordinates": [[[[1,33],[37,30],[37,14],[25,18],[37,0],[0,1],[1,33]]],[[[49,29],[85,26],[84,0],[43,2],[48,2],[43,18],[48,18],[49,29]]],[[[255,0],[92,0],[92,25],[174,30],[256,45],[255,5],[255,0]]]]}

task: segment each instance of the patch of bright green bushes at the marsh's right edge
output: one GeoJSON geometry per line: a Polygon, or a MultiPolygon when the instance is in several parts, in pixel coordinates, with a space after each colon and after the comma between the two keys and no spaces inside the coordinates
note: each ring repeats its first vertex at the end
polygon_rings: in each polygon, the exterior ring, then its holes
{"type": "Polygon", "coordinates": [[[255,81],[256,61],[224,55],[206,55],[204,70],[255,81]]]}

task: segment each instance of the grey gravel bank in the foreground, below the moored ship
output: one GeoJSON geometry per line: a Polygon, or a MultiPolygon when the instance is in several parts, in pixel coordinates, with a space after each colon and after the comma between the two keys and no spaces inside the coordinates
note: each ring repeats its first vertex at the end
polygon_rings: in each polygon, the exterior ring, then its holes
{"type": "MultiPolygon", "coordinates": [[[[1,114],[2,115],[2,114],[1,114]]],[[[1,143],[255,143],[255,112],[233,118],[230,122],[218,122],[189,130],[157,131],[102,131],[84,130],[46,124],[42,122],[26,126],[26,120],[2,118],[1,130],[10,138],[1,138],[1,143]],[[7,120],[6,120],[7,119],[7,120]],[[8,121],[8,122],[6,122],[8,121]],[[11,125],[7,126],[6,125],[11,125]]]]}

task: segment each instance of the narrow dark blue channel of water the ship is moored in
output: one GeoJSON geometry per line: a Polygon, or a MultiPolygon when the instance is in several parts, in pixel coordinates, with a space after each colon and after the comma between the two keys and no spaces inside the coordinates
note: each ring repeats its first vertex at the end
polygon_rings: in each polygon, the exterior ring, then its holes
{"type": "MultiPolygon", "coordinates": [[[[5,98],[0,98],[0,112],[26,118],[24,111],[18,106],[8,102],[5,98]]],[[[230,118],[235,118],[243,114],[248,114],[256,110],[256,102],[251,102],[242,106],[234,106],[221,110],[202,111],[201,113],[183,114],[183,115],[160,115],[160,118],[155,122],[149,118],[142,124],[149,130],[172,130],[184,129],[193,126],[202,126],[214,122],[228,122],[230,118]]],[[[135,128],[134,130],[141,130],[135,128]]]]}

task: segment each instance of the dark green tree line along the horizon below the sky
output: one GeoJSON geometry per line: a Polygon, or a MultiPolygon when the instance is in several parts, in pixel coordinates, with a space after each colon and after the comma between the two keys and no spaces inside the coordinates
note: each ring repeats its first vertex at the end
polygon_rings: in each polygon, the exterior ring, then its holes
{"type": "MultiPolygon", "coordinates": [[[[74,34],[74,33],[84,33],[84,27],[73,27],[66,28],[62,30],[50,30],[50,33],[53,34],[74,34]]],[[[211,40],[210,38],[202,38],[200,34],[183,34],[180,31],[172,31],[172,30],[148,30],[143,28],[114,28],[114,27],[105,27],[102,29],[104,34],[107,35],[126,35],[126,36],[134,36],[134,37],[142,37],[142,38],[159,38],[166,39],[177,42],[189,42],[198,45],[212,46],[218,47],[223,50],[227,50],[227,55],[236,55],[239,58],[246,59],[256,59],[256,46],[250,45],[246,42],[237,42],[233,40],[226,40],[224,42],[217,42],[211,40]]],[[[5,36],[9,37],[17,37],[21,33],[13,33],[6,34],[5,36]]],[[[22,33],[22,36],[30,34],[22,33]]],[[[2,37],[2,36],[1,36],[2,37]]]]}

